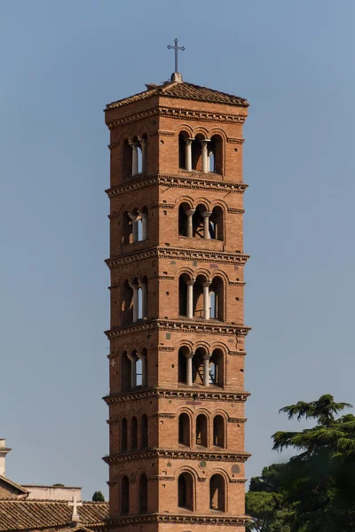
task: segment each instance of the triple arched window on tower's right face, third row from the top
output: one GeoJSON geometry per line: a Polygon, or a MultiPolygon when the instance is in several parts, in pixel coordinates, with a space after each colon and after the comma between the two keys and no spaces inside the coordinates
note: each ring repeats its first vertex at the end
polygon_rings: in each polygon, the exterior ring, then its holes
{"type": "Polygon", "coordinates": [[[179,316],[224,321],[224,294],[223,278],[211,282],[205,275],[190,278],[183,273],[178,279],[179,316]]]}

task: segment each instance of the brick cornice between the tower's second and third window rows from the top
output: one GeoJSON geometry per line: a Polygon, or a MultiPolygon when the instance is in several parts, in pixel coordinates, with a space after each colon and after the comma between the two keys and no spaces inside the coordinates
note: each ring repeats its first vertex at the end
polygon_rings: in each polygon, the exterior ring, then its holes
{"type": "Polygon", "coordinates": [[[152,258],[187,259],[197,262],[222,262],[223,264],[244,265],[248,261],[249,255],[236,252],[189,249],[188,247],[156,246],[142,251],[139,250],[132,254],[110,257],[105,262],[110,270],[114,270],[114,268],[120,267],[122,264],[132,264],[133,262],[141,262],[152,258]]]}

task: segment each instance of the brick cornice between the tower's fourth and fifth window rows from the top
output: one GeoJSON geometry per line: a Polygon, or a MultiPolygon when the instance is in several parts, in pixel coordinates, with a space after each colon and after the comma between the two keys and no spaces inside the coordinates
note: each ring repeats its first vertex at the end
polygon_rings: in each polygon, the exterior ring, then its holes
{"type": "Polygon", "coordinates": [[[196,388],[151,388],[146,390],[134,390],[106,395],[103,397],[108,405],[126,403],[127,401],[140,401],[142,399],[183,399],[193,401],[212,401],[227,403],[245,403],[249,392],[227,392],[216,389],[196,388]]]}

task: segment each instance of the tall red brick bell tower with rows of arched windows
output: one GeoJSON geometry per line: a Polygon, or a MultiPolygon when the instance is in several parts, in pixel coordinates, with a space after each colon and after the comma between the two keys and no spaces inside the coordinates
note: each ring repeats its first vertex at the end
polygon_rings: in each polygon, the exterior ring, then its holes
{"type": "Polygon", "coordinates": [[[181,74],[106,106],[110,530],[245,527],[247,114],[181,74]]]}

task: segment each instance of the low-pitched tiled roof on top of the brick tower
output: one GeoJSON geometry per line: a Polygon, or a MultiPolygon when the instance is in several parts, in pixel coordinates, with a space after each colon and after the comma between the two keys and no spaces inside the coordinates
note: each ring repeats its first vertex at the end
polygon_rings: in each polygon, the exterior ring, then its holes
{"type": "Polygon", "coordinates": [[[156,87],[149,86],[148,90],[145,90],[144,92],[139,92],[129,98],[123,98],[116,102],[112,102],[106,106],[106,110],[127,106],[127,104],[132,104],[152,96],[197,100],[212,104],[226,104],[227,106],[248,106],[248,101],[245,98],[226,94],[220,90],[199,87],[199,85],[193,85],[193,83],[167,82],[162,85],[156,85],[156,87]]]}

